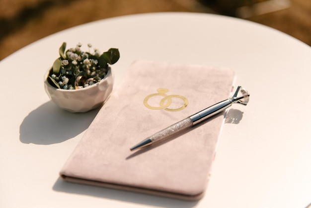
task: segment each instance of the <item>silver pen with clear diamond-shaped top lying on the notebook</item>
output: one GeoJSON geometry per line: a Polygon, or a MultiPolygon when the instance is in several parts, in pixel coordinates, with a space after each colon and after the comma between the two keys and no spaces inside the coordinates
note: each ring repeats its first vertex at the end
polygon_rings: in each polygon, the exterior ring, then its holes
{"type": "Polygon", "coordinates": [[[146,146],[149,146],[153,143],[162,141],[164,139],[167,139],[171,137],[172,135],[185,130],[186,128],[192,127],[193,125],[202,122],[203,120],[227,109],[234,103],[243,104],[246,105],[249,101],[249,93],[242,88],[241,86],[238,86],[233,96],[227,100],[224,100],[222,102],[219,102],[217,104],[214,104],[212,106],[209,106],[208,108],[205,108],[204,110],[201,110],[157,133],[154,135],[146,138],[145,140],[141,141],[140,143],[136,144],[131,148],[132,150],[143,148],[146,146]],[[240,94],[240,95],[239,95],[240,94]]]}

